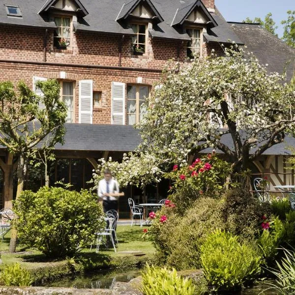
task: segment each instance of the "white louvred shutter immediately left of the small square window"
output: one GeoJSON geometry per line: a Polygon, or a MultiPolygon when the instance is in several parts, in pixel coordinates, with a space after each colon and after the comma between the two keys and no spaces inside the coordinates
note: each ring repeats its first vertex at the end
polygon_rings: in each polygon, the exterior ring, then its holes
{"type": "Polygon", "coordinates": [[[79,123],[92,124],[93,81],[79,81],[79,123]]]}

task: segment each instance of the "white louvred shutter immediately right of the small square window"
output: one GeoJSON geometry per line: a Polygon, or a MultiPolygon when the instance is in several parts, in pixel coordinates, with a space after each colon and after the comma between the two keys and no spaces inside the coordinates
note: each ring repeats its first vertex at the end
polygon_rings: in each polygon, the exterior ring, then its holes
{"type": "Polygon", "coordinates": [[[112,124],[125,125],[125,84],[112,82],[112,124]]]}

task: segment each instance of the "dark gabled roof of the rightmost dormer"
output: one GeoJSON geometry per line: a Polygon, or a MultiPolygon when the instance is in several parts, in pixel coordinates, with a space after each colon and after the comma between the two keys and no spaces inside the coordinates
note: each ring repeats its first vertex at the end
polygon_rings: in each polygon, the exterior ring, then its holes
{"type": "Polygon", "coordinates": [[[201,0],[196,0],[184,7],[177,8],[171,26],[182,25],[195,9],[200,9],[205,14],[208,21],[210,21],[214,27],[217,26],[216,21],[201,0]]]}

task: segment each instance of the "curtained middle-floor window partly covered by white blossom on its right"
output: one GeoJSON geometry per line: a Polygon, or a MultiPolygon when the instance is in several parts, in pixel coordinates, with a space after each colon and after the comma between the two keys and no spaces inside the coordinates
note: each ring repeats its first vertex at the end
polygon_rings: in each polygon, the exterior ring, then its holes
{"type": "Polygon", "coordinates": [[[142,120],[143,115],[147,113],[145,105],[146,98],[149,95],[148,86],[127,86],[127,124],[133,125],[142,120]]]}

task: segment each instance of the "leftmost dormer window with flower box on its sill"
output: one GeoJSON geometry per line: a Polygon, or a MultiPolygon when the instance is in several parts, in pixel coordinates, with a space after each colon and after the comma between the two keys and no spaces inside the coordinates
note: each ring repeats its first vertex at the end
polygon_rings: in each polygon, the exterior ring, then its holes
{"type": "Polygon", "coordinates": [[[54,46],[68,47],[71,45],[71,18],[70,17],[55,17],[54,22],[57,26],[54,32],[54,46]]]}

